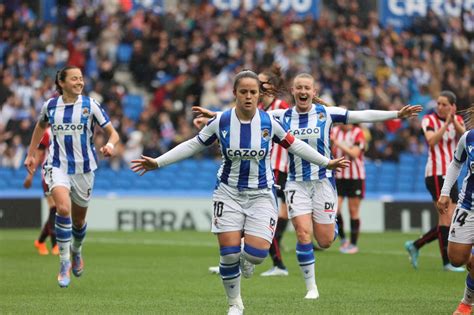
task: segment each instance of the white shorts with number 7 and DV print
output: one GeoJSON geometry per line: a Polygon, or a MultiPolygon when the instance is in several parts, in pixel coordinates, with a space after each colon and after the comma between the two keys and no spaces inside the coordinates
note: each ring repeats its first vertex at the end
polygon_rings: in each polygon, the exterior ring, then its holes
{"type": "Polygon", "coordinates": [[[334,224],[337,211],[337,191],[328,178],[295,182],[289,181],[285,188],[288,217],[311,213],[313,221],[334,224]]]}

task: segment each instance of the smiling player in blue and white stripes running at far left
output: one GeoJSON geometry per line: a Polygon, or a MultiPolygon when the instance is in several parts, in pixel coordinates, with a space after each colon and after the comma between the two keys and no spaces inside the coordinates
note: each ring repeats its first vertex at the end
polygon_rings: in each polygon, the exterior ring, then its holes
{"type": "Polygon", "coordinates": [[[53,139],[44,166],[44,176],[57,210],[55,229],[60,257],[58,284],[66,288],[71,281],[71,268],[76,277],[80,277],[84,271],[81,252],[87,227],[85,218],[94,184],[94,170],[97,168],[92,139],[94,126],[98,124],[108,136],[107,144],[100,148],[106,157],[113,154],[119,135],[102,107],[94,99],[81,95],[84,81],[79,68],[67,66],[58,71],[56,88],[60,96],[46,101],[41,109],[25,167],[29,173],[35,171],[35,149],[46,128],[51,126],[53,139]]]}

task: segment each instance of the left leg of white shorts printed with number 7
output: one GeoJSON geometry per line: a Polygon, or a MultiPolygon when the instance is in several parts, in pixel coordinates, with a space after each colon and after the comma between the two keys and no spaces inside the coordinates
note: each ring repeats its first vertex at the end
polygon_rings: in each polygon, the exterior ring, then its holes
{"type": "Polygon", "coordinates": [[[286,183],[285,193],[290,219],[313,212],[310,182],[289,181],[286,183]]]}

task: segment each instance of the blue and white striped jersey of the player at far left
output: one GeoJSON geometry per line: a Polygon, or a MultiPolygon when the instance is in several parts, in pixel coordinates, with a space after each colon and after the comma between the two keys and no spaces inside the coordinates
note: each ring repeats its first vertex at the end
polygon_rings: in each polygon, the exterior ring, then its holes
{"type": "Polygon", "coordinates": [[[79,96],[74,104],[64,104],[62,96],[47,100],[40,121],[51,125],[47,165],[67,174],[82,174],[97,168],[93,143],[94,126],[110,122],[102,107],[91,97],[79,96]]]}

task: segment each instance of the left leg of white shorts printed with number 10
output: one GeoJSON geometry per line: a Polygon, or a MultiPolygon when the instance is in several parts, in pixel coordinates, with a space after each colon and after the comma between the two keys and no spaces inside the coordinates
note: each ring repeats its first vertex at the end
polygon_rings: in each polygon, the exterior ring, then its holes
{"type": "Polygon", "coordinates": [[[225,233],[244,229],[245,215],[240,205],[238,191],[220,184],[212,196],[212,226],[213,233],[225,233]]]}

